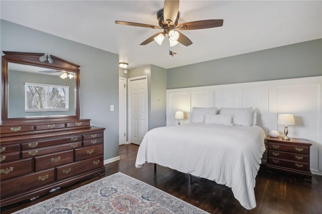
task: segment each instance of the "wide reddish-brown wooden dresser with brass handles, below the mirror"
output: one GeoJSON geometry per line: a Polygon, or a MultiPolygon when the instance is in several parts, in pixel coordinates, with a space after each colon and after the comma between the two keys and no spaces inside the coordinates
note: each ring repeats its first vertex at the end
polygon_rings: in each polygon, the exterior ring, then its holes
{"type": "Polygon", "coordinates": [[[105,175],[105,128],[90,120],[1,126],[1,206],[105,175]]]}

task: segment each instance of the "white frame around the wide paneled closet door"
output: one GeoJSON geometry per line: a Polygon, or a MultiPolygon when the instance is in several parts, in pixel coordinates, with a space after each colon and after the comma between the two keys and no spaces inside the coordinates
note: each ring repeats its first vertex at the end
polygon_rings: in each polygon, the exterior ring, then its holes
{"type": "Polygon", "coordinates": [[[131,84],[130,84],[130,81],[133,81],[133,80],[139,80],[139,79],[146,79],[146,130],[145,130],[145,133],[147,132],[147,126],[148,126],[148,83],[147,83],[147,75],[144,75],[144,76],[136,76],[136,77],[132,77],[132,78],[128,78],[127,79],[127,94],[128,94],[128,100],[127,100],[127,103],[128,103],[128,121],[129,123],[128,124],[128,136],[127,136],[127,139],[128,139],[128,142],[130,142],[130,139],[131,139],[131,84]]]}

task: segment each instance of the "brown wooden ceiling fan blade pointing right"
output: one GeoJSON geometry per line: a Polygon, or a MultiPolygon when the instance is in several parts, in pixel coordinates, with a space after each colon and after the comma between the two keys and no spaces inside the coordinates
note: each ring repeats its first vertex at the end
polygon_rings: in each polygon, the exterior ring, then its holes
{"type": "Polygon", "coordinates": [[[223,25],[222,19],[210,19],[210,20],[201,20],[194,22],[186,22],[178,24],[177,29],[183,30],[197,30],[197,29],[206,29],[206,28],[216,28],[223,25]]]}

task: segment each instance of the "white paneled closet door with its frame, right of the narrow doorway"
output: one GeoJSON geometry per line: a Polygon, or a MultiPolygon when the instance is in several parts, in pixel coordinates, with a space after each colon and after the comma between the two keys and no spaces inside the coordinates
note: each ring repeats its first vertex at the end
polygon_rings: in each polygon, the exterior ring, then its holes
{"type": "Polygon", "coordinates": [[[140,145],[147,132],[147,78],[129,79],[130,143],[140,145]]]}

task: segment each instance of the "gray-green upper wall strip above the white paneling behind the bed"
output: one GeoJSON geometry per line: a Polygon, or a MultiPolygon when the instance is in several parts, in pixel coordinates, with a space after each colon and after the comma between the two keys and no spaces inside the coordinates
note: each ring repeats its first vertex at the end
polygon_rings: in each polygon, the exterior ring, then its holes
{"type": "Polygon", "coordinates": [[[322,39],[168,69],[168,89],[322,75],[322,39]]]}

